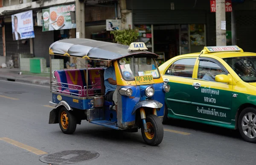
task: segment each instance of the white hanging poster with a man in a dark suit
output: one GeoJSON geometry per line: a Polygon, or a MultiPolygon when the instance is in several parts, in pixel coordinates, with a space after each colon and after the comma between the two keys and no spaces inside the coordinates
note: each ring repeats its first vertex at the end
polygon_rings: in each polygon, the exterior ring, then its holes
{"type": "Polygon", "coordinates": [[[35,38],[32,10],[12,15],[13,40],[35,38]]]}

